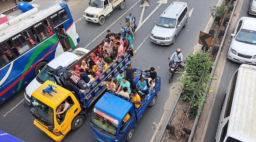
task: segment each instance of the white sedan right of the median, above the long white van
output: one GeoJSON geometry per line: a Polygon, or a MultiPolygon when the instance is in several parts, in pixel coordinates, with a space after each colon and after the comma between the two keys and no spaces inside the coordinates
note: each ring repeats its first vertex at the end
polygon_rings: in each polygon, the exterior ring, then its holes
{"type": "Polygon", "coordinates": [[[256,64],[256,18],[242,17],[239,19],[227,58],[237,63],[256,64]]]}

